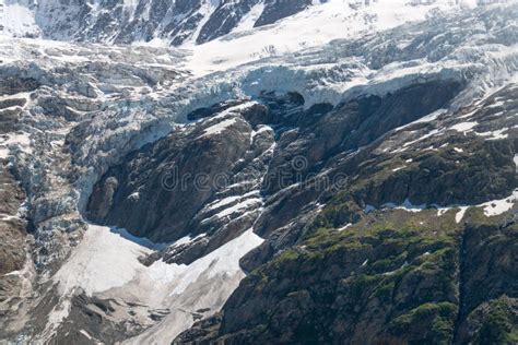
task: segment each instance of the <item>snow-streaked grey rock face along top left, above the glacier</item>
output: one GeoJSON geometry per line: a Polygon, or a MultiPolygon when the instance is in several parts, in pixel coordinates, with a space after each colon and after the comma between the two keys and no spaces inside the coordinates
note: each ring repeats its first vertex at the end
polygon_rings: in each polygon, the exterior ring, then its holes
{"type": "Polygon", "coordinates": [[[7,31],[21,36],[39,34],[60,40],[114,44],[160,38],[179,46],[212,40],[240,23],[247,28],[272,24],[310,4],[308,0],[8,1],[8,15],[23,11],[28,23],[25,29],[13,24],[7,31]]]}

